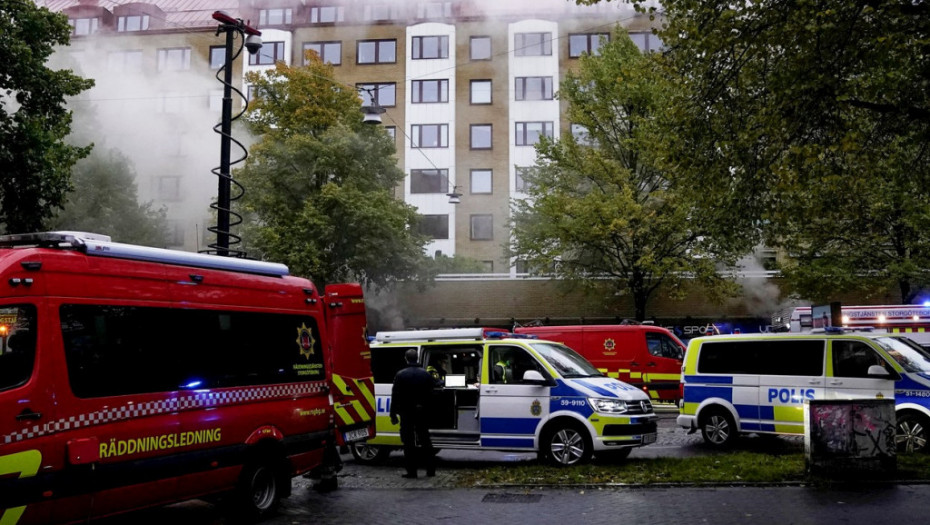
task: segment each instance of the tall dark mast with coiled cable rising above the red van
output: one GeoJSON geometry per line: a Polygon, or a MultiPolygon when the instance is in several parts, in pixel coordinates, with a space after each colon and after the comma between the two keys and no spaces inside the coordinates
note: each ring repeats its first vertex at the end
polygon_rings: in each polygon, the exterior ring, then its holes
{"type": "Polygon", "coordinates": [[[226,55],[223,66],[223,115],[220,121],[220,170],[219,185],[216,192],[216,253],[217,255],[230,255],[229,251],[229,228],[230,228],[230,198],[231,198],[231,181],[230,172],[230,149],[232,147],[232,64],[233,60],[242,52],[242,47],[233,55],[233,42],[236,35],[245,37],[245,47],[249,53],[255,54],[262,47],[261,31],[249,26],[241,18],[233,18],[223,11],[213,13],[213,19],[220,22],[216,28],[216,34],[226,33],[226,55]]]}

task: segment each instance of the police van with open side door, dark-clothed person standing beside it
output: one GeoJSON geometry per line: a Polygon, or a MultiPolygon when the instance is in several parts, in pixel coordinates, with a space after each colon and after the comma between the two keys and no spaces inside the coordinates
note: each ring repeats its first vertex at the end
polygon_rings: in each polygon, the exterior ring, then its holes
{"type": "Polygon", "coordinates": [[[438,378],[429,401],[436,449],[535,451],[553,465],[573,465],[592,455],[626,457],[656,440],[649,397],[564,345],[482,328],[378,332],[376,437],[350,447],[361,462],[402,445],[390,421],[391,388],[409,349],[438,378]]]}

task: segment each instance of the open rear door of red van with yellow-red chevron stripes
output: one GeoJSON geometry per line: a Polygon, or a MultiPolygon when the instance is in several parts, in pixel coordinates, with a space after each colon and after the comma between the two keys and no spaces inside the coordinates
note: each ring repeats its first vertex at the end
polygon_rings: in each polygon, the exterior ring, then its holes
{"type": "Polygon", "coordinates": [[[362,287],[334,284],[325,292],[327,332],[333,350],[336,443],[342,446],[374,437],[375,386],[362,287]]]}

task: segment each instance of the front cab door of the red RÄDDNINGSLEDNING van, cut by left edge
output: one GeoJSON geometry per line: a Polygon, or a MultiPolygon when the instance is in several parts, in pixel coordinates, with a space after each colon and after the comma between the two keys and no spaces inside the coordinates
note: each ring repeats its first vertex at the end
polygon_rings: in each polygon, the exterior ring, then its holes
{"type": "Polygon", "coordinates": [[[0,523],[47,522],[52,505],[40,504],[42,480],[63,468],[63,444],[49,434],[54,380],[38,364],[45,352],[37,352],[37,321],[33,304],[0,306],[0,523]]]}

